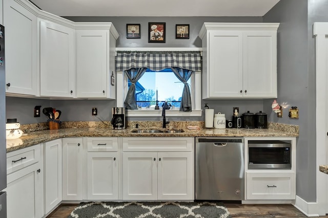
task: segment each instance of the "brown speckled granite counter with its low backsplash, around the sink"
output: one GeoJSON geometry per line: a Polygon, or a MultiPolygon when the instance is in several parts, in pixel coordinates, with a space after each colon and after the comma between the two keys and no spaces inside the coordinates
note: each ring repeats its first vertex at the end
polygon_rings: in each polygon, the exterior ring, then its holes
{"type": "Polygon", "coordinates": [[[68,137],[298,137],[299,129],[296,125],[272,124],[267,129],[246,128],[203,128],[203,121],[172,121],[169,129],[182,129],[183,133],[131,133],[135,129],[161,129],[158,121],[131,121],[127,129],[114,130],[109,122],[65,122],[60,129],[49,130],[46,124],[22,125],[25,134],[19,139],[7,140],[7,152],[11,152],[35,144],[68,137]],[[199,126],[200,129],[188,129],[188,126],[199,126]],[[65,128],[63,128],[65,127],[65,128]],[[31,130],[33,129],[33,130],[31,130]],[[38,130],[36,130],[38,129],[38,130]]]}

